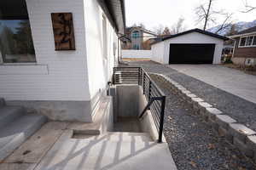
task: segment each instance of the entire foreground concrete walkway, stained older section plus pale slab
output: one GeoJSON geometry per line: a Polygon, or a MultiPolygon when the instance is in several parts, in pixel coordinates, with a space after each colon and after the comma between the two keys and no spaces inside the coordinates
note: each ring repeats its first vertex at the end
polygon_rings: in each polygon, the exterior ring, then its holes
{"type": "Polygon", "coordinates": [[[1,170],[177,170],[166,142],[148,133],[73,136],[67,122],[48,122],[5,161],[1,170]]]}

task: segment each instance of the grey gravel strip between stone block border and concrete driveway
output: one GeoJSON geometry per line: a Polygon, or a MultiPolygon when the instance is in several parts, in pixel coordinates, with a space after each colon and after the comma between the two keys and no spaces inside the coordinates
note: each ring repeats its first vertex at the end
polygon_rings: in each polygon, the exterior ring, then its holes
{"type": "Polygon", "coordinates": [[[256,104],[229,94],[219,88],[215,88],[206,82],[201,82],[193,77],[173,70],[166,65],[156,64],[152,61],[133,61],[129,65],[143,66],[146,71],[164,74],[179,82],[189,91],[204,99],[211,105],[215,105],[224,114],[229,115],[247,127],[256,131],[256,104]]]}

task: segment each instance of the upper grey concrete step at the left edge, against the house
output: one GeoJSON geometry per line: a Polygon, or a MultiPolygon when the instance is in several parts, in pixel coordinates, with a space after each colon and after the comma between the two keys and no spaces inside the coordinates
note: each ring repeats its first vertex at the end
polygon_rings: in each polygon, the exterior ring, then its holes
{"type": "Polygon", "coordinates": [[[25,109],[20,106],[0,107],[0,128],[5,127],[10,122],[14,122],[20,116],[24,116],[25,113],[25,109]]]}

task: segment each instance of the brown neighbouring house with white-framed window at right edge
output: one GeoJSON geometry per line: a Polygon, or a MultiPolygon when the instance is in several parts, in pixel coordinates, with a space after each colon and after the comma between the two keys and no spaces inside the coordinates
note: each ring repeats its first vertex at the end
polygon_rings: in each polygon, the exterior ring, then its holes
{"type": "Polygon", "coordinates": [[[230,36],[235,40],[232,61],[236,65],[256,65],[256,26],[230,36]]]}

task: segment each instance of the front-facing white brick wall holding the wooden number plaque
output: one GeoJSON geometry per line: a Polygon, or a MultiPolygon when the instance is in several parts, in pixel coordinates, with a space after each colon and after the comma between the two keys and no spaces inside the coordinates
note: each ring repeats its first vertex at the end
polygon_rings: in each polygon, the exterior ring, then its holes
{"type": "Polygon", "coordinates": [[[0,65],[0,96],[7,100],[89,100],[83,0],[26,3],[37,64],[9,65],[11,71],[4,74],[7,67],[0,65]],[[75,51],[55,51],[50,18],[54,12],[73,13],[75,51]]]}

